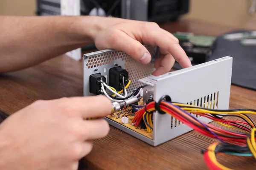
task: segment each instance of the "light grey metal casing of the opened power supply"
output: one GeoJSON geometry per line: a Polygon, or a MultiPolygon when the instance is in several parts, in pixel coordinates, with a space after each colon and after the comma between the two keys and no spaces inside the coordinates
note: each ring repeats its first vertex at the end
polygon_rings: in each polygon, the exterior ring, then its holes
{"type": "MultiPolygon", "coordinates": [[[[157,48],[148,47],[148,49],[151,51],[153,58],[159,57],[157,48]]],[[[89,93],[89,77],[91,74],[101,73],[108,77],[108,70],[117,64],[129,72],[129,77],[133,85],[128,88],[128,93],[132,93],[134,88],[147,84],[148,91],[151,91],[155,101],[167,94],[171,96],[172,101],[175,102],[199,105],[206,108],[228,109],[232,61],[232,57],[223,57],[190,68],[173,71],[159,77],[154,77],[151,76],[154,70],[153,63],[141,65],[122,51],[103,50],[84,54],[84,96],[92,95],[89,93]]],[[[145,91],[144,95],[146,95],[145,91]]],[[[154,113],[152,140],[111,119],[105,119],[110,125],[153,146],[167,142],[192,130],[169,114],[161,115],[154,113]]],[[[204,122],[211,121],[204,117],[198,117],[198,119],[204,122]]]]}

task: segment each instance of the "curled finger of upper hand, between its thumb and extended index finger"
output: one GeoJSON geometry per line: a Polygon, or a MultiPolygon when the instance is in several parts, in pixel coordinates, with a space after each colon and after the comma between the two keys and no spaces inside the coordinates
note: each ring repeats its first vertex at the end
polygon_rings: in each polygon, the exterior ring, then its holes
{"type": "Polygon", "coordinates": [[[174,65],[175,59],[172,57],[170,53],[166,54],[166,56],[161,60],[160,67],[158,67],[152,75],[159,76],[162,74],[166,74],[171,71],[172,66],[174,65]]]}

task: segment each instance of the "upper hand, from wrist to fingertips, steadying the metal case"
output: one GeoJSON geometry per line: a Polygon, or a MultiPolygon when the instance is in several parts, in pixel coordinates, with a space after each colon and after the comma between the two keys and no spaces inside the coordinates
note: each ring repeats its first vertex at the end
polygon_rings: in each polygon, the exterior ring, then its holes
{"type": "Polygon", "coordinates": [[[169,72],[175,60],[183,68],[192,66],[178,39],[156,23],[102,17],[95,17],[95,20],[100,25],[93,34],[93,40],[99,50],[111,48],[125,51],[138,62],[147,64],[151,55],[141,43],[158,46],[161,55],[154,64],[157,68],[153,73],[155,76],[169,72]]]}

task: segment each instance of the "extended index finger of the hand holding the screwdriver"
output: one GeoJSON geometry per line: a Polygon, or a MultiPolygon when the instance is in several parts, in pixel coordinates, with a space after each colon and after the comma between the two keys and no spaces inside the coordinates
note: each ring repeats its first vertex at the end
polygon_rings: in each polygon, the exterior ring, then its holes
{"type": "Polygon", "coordinates": [[[105,96],[70,97],[58,100],[64,109],[82,118],[105,117],[112,112],[112,102],[105,96]]]}

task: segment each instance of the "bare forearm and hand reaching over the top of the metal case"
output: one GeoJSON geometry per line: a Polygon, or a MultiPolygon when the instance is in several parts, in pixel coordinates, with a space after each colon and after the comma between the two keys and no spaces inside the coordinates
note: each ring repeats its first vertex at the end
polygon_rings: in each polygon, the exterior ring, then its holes
{"type": "Polygon", "coordinates": [[[158,76],[175,62],[192,66],[177,38],[156,23],[96,16],[0,17],[0,72],[15,71],[44,62],[90,43],[99,50],[125,51],[147,64],[151,56],[141,44],[159,46],[158,76]]]}

